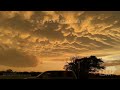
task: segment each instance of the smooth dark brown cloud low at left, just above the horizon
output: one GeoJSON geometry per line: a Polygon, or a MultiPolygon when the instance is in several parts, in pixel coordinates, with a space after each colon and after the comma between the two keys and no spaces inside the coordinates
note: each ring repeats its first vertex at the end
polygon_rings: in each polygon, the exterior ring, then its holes
{"type": "Polygon", "coordinates": [[[38,60],[16,49],[0,50],[0,65],[11,67],[35,67],[38,60]]]}

